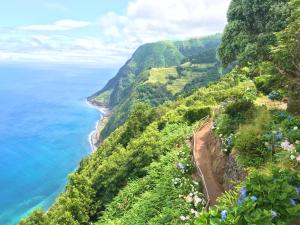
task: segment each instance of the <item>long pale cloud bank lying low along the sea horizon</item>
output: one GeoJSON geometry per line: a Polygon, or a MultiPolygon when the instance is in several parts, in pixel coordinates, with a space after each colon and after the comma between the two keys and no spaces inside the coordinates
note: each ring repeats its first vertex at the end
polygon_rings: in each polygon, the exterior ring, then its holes
{"type": "Polygon", "coordinates": [[[0,61],[84,64],[97,67],[121,65],[127,50],[107,45],[94,37],[72,38],[64,35],[29,35],[0,39],[0,61]]]}

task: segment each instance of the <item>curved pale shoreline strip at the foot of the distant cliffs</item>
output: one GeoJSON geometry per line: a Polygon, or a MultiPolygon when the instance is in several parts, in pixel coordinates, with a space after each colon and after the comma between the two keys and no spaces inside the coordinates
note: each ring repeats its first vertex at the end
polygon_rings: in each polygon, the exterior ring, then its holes
{"type": "Polygon", "coordinates": [[[97,101],[96,99],[87,99],[87,104],[101,112],[101,117],[96,122],[95,130],[89,134],[89,143],[92,153],[94,153],[102,142],[100,134],[111,116],[111,110],[105,104],[97,101]]]}

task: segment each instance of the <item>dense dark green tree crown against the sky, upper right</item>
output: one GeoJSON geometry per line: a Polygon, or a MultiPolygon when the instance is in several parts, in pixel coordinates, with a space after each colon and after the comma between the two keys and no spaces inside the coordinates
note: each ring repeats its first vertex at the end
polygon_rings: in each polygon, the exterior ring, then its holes
{"type": "Polygon", "coordinates": [[[223,65],[269,59],[270,47],[276,43],[274,32],[288,25],[287,3],[288,0],[232,0],[219,49],[223,65]]]}

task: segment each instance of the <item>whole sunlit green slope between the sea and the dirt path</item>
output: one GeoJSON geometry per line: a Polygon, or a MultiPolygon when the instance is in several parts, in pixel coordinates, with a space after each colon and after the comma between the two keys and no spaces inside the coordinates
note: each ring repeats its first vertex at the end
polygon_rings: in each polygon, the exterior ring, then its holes
{"type": "MultiPolygon", "coordinates": [[[[236,74],[236,73],[235,73],[236,74]]],[[[210,109],[233,97],[255,94],[234,74],[158,108],[140,103],[124,125],[70,175],[66,190],[47,213],[21,224],[184,224],[205,204],[192,180],[192,129],[210,109]],[[182,220],[184,219],[184,220],[182,220]]]]}

